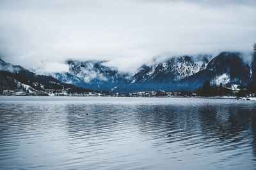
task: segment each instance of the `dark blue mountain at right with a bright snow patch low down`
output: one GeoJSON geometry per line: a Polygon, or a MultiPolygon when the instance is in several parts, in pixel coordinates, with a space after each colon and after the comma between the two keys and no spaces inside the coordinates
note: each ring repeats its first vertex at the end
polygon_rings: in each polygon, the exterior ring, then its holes
{"type": "Polygon", "coordinates": [[[209,62],[207,67],[180,83],[189,90],[195,89],[210,80],[212,84],[223,83],[231,86],[247,85],[250,81],[250,66],[243,62],[240,57],[241,53],[222,52],[209,62]]]}

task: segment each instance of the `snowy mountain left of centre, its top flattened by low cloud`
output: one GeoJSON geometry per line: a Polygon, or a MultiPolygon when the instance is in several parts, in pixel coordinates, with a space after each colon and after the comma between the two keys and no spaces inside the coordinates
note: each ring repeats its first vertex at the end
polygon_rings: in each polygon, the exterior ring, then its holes
{"type": "Polygon", "coordinates": [[[52,77],[72,83],[78,87],[89,89],[111,90],[122,83],[128,83],[127,73],[119,73],[115,67],[104,66],[106,61],[90,60],[79,62],[68,60],[69,71],[66,73],[51,73],[52,77]]]}

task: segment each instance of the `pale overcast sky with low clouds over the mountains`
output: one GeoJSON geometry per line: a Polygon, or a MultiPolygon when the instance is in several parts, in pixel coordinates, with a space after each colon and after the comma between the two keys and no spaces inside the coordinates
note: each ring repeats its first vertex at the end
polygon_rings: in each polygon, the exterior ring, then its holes
{"type": "Polygon", "coordinates": [[[255,0],[0,1],[1,58],[28,69],[75,59],[134,71],[162,53],[252,52],[255,41],[255,0]]]}

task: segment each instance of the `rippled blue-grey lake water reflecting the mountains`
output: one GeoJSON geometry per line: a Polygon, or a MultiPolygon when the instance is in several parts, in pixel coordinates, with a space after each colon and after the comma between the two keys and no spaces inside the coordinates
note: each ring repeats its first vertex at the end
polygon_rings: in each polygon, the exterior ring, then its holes
{"type": "Polygon", "coordinates": [[[0,97],[0,169],[255,167],[255,101],[0,97]]]}

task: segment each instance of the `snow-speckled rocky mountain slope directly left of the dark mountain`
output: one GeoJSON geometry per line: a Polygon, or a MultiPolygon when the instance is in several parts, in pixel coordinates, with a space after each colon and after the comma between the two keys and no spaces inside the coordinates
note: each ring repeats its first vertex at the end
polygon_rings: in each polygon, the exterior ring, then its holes
{"type": "Polygon", "coordinates": [[[205,69],[210,58],[208,55],[182,56],[153,66],[143,65],[132,77],[132,83],[179,81],[205,69]]]}

